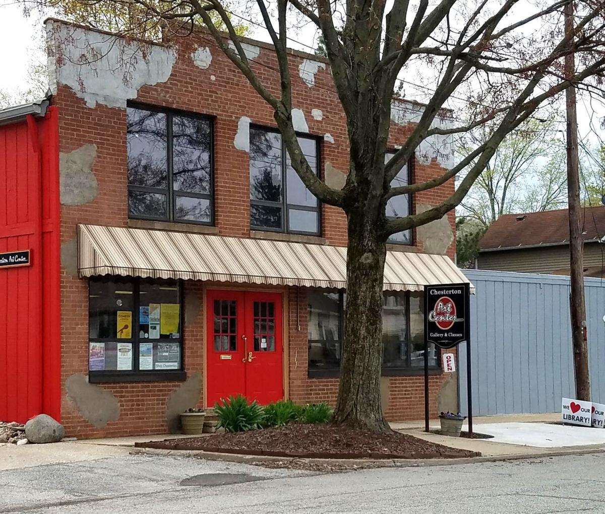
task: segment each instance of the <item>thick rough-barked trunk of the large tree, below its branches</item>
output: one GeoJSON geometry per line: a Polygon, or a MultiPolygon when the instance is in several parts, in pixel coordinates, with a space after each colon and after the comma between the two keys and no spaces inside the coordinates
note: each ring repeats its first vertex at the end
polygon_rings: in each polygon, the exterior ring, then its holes
{"type": "Polygon", "coordinates": [[[376,220],[367,211],[360,211],[348,214],[346,329],[334,422],[388,432],[380,387],[382,283],[387,249],[376,220]]]}

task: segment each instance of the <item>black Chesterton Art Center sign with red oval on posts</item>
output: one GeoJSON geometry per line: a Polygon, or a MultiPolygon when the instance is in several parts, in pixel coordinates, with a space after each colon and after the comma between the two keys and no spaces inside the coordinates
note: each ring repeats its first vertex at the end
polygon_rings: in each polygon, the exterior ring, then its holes
{"type": "Polygon", "coordinates": [[[469,337],[470,284],[424,287],[424,333],[427,342],[447,349],[469,337]]]}

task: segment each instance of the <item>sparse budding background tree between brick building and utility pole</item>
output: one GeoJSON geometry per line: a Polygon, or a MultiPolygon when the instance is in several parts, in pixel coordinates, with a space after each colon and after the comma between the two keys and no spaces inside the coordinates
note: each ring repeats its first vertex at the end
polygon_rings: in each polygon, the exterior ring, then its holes
{"type": "MultiPolygon", "coordinates": [[[[459,152],[467,155],[485,141],[489,137],[487,128],[469,131],[459,152]]],[[[463,211],[486,228],[502,214],[565,205],[565,154],[561,141],[552,137],[552,132],[552,124],[533,119],[511,132],[469,190],[461,204],[463,211]]],[[[463,174],[460,180],[462,177],[463,174]]]]}

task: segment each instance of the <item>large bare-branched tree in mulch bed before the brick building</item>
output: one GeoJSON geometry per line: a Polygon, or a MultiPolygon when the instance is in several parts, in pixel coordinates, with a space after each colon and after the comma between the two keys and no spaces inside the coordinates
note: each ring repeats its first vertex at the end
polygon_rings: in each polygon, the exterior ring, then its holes
{"type": "MultiPolygon", "coordinates": [[[[42,1],[42,0],[39,0],[42,1]]],[[[61,0],[56,0],[60,3],[61,0]]],[[[65,1],[65,0],[63,0],[65,1]]],[[[564,34],[561,10],[571,0],[518,5],[518,0],[257,0],[273,43],[279,88],[268,87],[250,63],[231,13],[221,0],[70,0],[123,13],[136,6],[139,27],[175,20],[203,24],[218,47],[240,69],[273,110],[292,167],[321,202],[347,214],[347,300],[335,423],[388,431],[381,408],[382,289],[386,243],[391,234],[440,219],[465,198],[509,133],[522,127],[543,104],[570,84],[598,92],[605,72],[603,7],[578,0],[575,39],[564,34]],[[389,6],[387,11],[387,5],[389,6]],[[213,18],[214,16],[214,18],[213,18]],[[227,29],[215,25],[218,16],[227,29]],[[333,82],[347,121],[350,162],[344,187],[325,184],[310,167],[296,138],[292,109],[289,28],[299,19],[321,31],[333,82]],[[535,28],[545,28],[536,30],[535,28]],[[228,44],[228,43],[231,44],[228,44]],[[561,77],[561,60],[577,56],[578,68],[561,77]],[[422,75],[431,83],[425,104],[410,124],[409,137],[385,163],[391,100],[402,76],[422,75]],[[593,80],[594,79],[594,80],[593,80]],[[445,126],[437,120],[454,97],[471,109],[445,126]],[[397,172],[421,144],[485,126],[485,138],[434,179],[391,186],[397,172]],[[456,191],[434,207],[407,216],[386,216],[387,201],[439,187],[464,170],[456,191]]],[[[253,16],[250,11],[247,16],[253,16]]],[[[137,33],[135,28],[132,28],[137,33]]],[[[195,30],[191,31],[195,37],[195,30]]]]}

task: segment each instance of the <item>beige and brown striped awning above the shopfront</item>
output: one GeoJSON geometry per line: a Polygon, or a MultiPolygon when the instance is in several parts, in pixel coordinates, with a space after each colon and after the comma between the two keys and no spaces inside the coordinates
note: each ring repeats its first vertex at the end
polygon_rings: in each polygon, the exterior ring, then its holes
{"type": "MultiPolygon", "coordinates": [[[[241,237],[78,225],[78,273],[346,288],[347,249],[241,237]]],[[[446,255],[388,252],[386,291],[468,279],[446,255]]]]}

